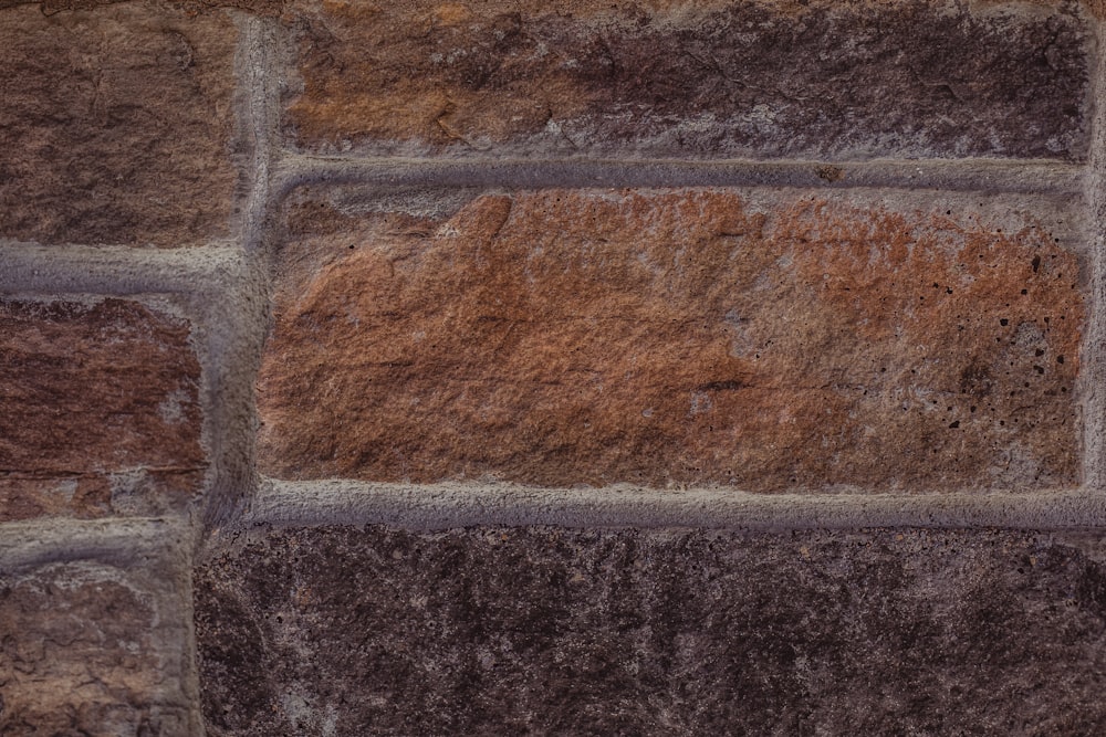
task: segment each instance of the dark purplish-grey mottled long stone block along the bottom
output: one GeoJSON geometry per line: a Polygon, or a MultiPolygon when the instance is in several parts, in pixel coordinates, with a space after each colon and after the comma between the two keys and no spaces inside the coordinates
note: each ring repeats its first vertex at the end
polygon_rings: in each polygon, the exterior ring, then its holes
{"type": "Polygon", "coordinates": [[[198,571],[212,735],[1089,735],[1102,551],[1051,535],[253,531],[198,571]]]}

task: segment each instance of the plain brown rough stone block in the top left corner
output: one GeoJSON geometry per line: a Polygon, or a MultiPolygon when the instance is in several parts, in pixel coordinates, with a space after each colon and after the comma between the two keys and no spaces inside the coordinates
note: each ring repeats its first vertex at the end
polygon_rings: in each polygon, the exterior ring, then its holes
{"type": "Polygon", "coordinates": [[[0,10],[0,236],[182,245],[229,234],[237,30],[219,11],[0,10]]]}

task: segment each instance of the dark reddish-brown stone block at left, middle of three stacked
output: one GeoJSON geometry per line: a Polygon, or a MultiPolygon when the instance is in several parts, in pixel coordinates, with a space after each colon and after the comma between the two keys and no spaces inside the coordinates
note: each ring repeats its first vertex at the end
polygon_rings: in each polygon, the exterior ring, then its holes
{"type": "Polygon", "coordinates": [[[181,508],[206,466],[189,331],[121,299],[0,301],[0,520],[181,508]]]}

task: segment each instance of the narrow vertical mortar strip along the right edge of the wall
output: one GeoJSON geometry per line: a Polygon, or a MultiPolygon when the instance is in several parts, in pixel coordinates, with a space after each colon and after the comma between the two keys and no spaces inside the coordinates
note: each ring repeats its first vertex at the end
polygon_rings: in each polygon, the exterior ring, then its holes
{"type": "Polygon", "coordinates": [[[1103,59],[1103,31],[1106,24],[1095,19],[1094,54],[1091,72],[1089,150],[1084,169],[1084,207],[1088,209],[1088,252],[1091,260],[1087,331],[1084,336],[1081,371],[1083,397],[1083,485],[1088,492],[1106,489],[1106,60],[1103,59]]]}

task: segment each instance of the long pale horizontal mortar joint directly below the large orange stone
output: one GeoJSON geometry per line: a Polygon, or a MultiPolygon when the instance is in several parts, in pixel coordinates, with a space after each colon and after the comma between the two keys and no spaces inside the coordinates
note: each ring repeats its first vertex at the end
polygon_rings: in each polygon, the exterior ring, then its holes
{"type": "Polygon", "coordinates": [[[848,529],[1106,525],[1106,496],[1092,489],[987,494],[761,495],[732,489],[630,486],[535,488],[513,484],[386,484],[267,480],[240,524],[848,529]]]}

